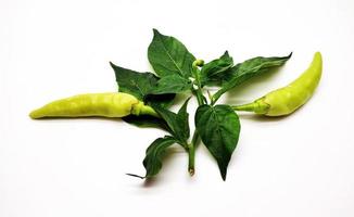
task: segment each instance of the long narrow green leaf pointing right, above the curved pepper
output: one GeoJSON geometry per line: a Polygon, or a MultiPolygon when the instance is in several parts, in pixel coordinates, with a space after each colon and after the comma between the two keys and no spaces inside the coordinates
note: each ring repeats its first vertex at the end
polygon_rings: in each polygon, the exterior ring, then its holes
{"type": "MultiPolygon", "coordinates": [[[[248,61],[244,61],[243,63],[239,63],[232,68],[230,68],[226,75],[227,75],[227,81],[223,82],[222,89],[219,89],[214,94],[213,103],[216,102],[216,100],[222,97],[225,92],[228,90],[235,88],[236,86],[244,82],[245,80],[262,75],[264,73],[269,72],[271,68],[275,68],[277,66],[283,65],[290,58],[290,53],[287,56],[275,56],[275,58],[253,58],[248,61]]],[[[224,78],[223,78],[224,79],[224,78]]],[[[225,79],[224,79],[225,80],[225,79]]]]}

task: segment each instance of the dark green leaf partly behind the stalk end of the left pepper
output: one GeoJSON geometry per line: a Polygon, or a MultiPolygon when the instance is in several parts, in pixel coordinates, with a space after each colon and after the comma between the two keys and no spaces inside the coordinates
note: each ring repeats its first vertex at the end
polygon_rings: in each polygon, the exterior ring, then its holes
{"type": "Polygon", "coordinates": [[[138,73],[111,63],[114,69],[115,78],[118,84],[118,91],[135,95],[138,100],[146,103],[157,103],[161,106],[170,105],[175,94],[161,94],[150,97],[149,92],[154,89],[159,78],[152,73],[138,73]]]}

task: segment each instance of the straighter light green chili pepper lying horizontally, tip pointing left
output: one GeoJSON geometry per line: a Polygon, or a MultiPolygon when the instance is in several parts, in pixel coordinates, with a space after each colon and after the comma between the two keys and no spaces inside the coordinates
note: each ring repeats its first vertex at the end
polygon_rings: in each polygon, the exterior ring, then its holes
{"type": "Polygon", "coordinates": [[[127,115],[159,116],[155,111],[144,105],[131,94],[123,92],[87,93],[56,100],[33,111],[34,119],[42,117],[124,117],[127,115]]]}

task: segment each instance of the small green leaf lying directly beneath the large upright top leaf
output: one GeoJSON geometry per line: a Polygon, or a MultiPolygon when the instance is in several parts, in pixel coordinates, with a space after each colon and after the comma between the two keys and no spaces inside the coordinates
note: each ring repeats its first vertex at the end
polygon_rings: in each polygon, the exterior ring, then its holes
{"type": "Polygon", "coordinates": [[[192,82],[178,75],[162,77],[149,94],[179,93],[192,88],[192,82]]]}

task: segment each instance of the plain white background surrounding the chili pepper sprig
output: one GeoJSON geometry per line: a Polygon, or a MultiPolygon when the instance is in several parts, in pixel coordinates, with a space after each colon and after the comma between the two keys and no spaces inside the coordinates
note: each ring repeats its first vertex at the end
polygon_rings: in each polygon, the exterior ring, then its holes
{"type": "Polygon", "coordinates": [[[352,0],[1,0],[0,216],[354,216],[353,38],[352,0]],[[146,148],[164,135],[157,129],[28,118],[58,98],[115,91],[109,61],[151,71],[152,28],[205,61],[225,50],[235,62],[293,51],[285,67],[236,88],[227,103],[287,85],[315,51],[323,79],[289,117],[240,113],[225,182],[203,145],[192,178],[177,145],[155,180],[126,176],[144,174],[146,148]]]}

